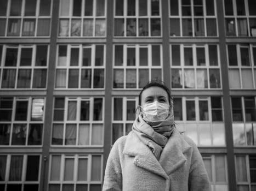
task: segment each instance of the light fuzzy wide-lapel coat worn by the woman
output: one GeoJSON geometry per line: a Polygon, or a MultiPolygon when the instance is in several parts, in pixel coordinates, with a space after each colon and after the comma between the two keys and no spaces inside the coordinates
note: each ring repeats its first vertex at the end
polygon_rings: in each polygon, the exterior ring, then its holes
{"type": "Polygon", "coordinates": [[[107,159],[103,190],[211,190],[206,169],[194,142],[177,129],[159,161],[130,132],[113,145],[107,159]]]}

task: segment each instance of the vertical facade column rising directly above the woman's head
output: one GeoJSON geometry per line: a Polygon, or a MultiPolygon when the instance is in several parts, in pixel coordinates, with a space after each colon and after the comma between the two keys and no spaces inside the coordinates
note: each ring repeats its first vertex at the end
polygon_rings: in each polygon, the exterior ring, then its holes
{"type": "Polygon", "coordinates": [[[162,3],[163,81],[170,87],[169,1],[162,3]]]}

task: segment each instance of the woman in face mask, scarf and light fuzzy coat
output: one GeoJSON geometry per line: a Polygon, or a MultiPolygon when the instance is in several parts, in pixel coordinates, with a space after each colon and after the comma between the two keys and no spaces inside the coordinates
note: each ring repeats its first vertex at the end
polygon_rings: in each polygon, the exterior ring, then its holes
{"type": "Polygon", "coordinates": [[[169,89],[149,82],[138,110],[132,131],[111,149],[103,190],[211,190],[197,146],[174,126],[169,89]]]}

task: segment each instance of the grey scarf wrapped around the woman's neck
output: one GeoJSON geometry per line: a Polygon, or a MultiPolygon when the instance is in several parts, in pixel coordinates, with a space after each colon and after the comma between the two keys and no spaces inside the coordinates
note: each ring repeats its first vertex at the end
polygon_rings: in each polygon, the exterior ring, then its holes
{"type": "Polygon", "coordinates": [[[173,115],[169,115],[163,121],[146,121],[139,115],[133,123],[132,130],[159,160],[163,147],[174,130],[173,115]]]}

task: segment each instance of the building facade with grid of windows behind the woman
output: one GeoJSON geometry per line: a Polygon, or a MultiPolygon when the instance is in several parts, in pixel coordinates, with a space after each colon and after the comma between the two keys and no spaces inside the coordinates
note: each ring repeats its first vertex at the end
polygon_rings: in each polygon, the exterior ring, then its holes
{"type": "Polygon", "coordinates": [[[212,190],[255,191],[255,0],[0,0],[0,190],[101,190],[151,79],[212,190]]]}

